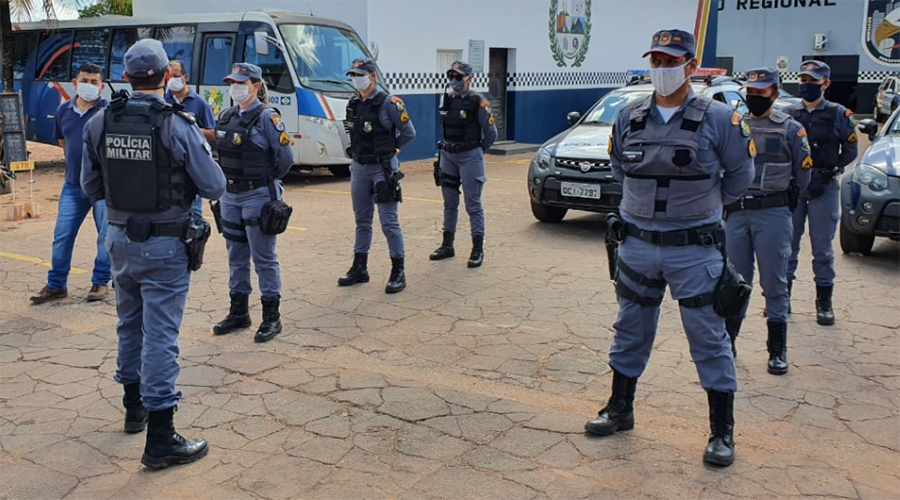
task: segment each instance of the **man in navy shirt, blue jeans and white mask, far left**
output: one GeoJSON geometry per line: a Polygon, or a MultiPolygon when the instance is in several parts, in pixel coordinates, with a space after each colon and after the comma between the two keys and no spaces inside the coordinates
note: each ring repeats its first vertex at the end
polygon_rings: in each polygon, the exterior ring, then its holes
{"type": "Polygon", "coordinates": [[[97,257],[94,259],[94,274],[91,277],[91,291],[86,300],[103,300],[109,293],[112,279],[109,255],[104,247],[106,240],[106,203],[103,200],[91,203],[81,190],[81,156],[84,149],[84,125],[98,111],[106,107],[106,100],[100,97],[103,81],[100,68],[87,63],[78,68],[72,81],[75,85],[74,99],[62,103],[56,110],[56,138],[65,150],[66,179],[59,195],[59,213],[56,229],[53,231],[52,267],[47,273],[47,285],[40,293],[31,297],[34,304],[43,304],[68,297],[67,281],[72,267],[72,250],[75,238],[84,218],[93,208],[94,225],[97,226],[97,257]]]}

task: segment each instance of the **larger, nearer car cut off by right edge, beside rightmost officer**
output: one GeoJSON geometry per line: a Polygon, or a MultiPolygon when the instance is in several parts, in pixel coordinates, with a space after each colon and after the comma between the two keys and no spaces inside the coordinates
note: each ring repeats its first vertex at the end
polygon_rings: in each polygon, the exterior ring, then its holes
{"type": "Polygon", "coordinates": [[[876,237],[900,240],[900,110],[881,131],[862,120],[872,145],[841,177],[841,250],[868,254],[876,237]]]}

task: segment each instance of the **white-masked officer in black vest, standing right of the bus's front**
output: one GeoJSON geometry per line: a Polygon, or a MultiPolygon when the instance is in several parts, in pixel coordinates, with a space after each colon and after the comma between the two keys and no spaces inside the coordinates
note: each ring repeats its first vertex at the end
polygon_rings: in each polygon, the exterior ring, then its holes
{"type": "Polygon", "coordinates": [[[369,58],[356,59],[347,71],[356,95],[347,104],[350,126],[350,195],[356,218],[353,265],[338,279],[338,286],[368,283],[369,247],[375,205],[381,231],[391,255],[391,276],[384,291],[397,293],[406,288],[403,260],[403,232],[399,220],[400,149],[416,137],[403,101],[381,90],[376,83],[377,68],[369,58]],[[392,180],[393,179],[393,180],[392,180]]]}

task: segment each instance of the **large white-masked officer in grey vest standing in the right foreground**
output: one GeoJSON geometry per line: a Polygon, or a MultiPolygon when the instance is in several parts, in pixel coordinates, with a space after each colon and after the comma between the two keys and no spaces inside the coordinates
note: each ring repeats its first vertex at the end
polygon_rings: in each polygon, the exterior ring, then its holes
{"type": "Polygon", "coordinates": [[[618,249],[619,314],[609,353],[612,396],[585,425],[607,436],[634,427],[634,393],[644,372],[666,284],[681,308],[691,357],[707,391],[711,436],[705,462],[734,461],[734,358],[724,319],[714,310],[724,259],[722,204],[739,199],[753,179],[755,146],[747,125],[725,104],[694,94],[694,37],[653,35],[654,92],[623,108],[610,158],[623,183],[618,249]]]}

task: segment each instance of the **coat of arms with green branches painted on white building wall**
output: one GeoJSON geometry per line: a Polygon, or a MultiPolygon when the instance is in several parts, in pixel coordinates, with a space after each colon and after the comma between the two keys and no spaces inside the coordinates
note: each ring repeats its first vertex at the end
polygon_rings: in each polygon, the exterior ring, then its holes
{"type": "Polygon", "coordinates": [[[591,40],[591,0],[550,0],[548,31],[556,65],[580,67],[591,40]]]}

